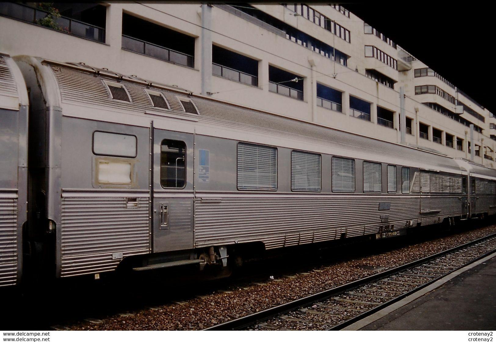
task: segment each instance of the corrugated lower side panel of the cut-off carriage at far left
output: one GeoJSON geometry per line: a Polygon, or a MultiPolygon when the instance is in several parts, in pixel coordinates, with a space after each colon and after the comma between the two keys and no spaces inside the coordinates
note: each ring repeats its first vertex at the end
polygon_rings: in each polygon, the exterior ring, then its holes
{"type": "Polygon", "coordinates": [[[3,195],[0,193],[0,286],[14,285],[18,272],[17,198],[3,195]]]}

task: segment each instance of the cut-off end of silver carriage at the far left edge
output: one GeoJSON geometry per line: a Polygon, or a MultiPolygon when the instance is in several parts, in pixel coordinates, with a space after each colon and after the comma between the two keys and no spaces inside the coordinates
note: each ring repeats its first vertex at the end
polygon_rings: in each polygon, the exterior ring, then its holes
{"type": "Polygon", "coordinates": [[[26,222],[28,96],[8,55],[0,54],[0,286],[21,277],[26,222]]]}

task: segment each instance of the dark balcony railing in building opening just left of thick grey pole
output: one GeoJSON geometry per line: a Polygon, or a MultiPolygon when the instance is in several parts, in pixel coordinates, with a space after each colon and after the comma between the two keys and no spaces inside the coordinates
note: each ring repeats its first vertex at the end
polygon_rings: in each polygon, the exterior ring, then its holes
{"type": "Polygon", "coordinates": [[[137,52],[146,56],[158,58],[162,61],[193,68],[194,59],[191,55],[124,35],[122,44],[124,50],[137,52]]]}

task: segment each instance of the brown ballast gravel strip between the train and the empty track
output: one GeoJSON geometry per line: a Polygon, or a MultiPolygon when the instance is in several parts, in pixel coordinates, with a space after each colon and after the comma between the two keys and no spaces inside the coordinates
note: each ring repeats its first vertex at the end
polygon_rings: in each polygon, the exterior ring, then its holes
{"type": "MultiPolygon", "coordinates": [[[[491,225],[402,247],[380,255],[337,262],[321,269],[281,277],[277,279],[279,281],[267,279],[263,284],[216,291],[208,296],[195,297],[183,304],[172,303],[128,312],[132,316],[99,317],[102,320],[100,323],[81,322],[68,328],[70,330],[201,330],[398,267],[495,232],[496,225],[491,225]],[[364,265],[367,266],[366,269],[364,265]]],[[[442,265],[438,266],[442,267],[442,265]]],[[[407,284],[405,286],[409,287],[407,284]]],[[[373,290],[381,293],[380,287],[377,286],[373,290]]],[[[354,297],[350,296],[350,298],[354,297]]],[[[335,301],[330,299],[327,303],[331,302],[335,301]]],[[[353,302],[340,302],[339,306],[359,310],[368,308],[367,304],[353,302]]],[[[324,325],[334,321],[332,316],[325,320],[327,322],[322,322],[324,325]]],[[[271,323],[277,327],[277,322],[271,323]]],[[[307,329],[311,330],[312,324],[309,324],[307,329]]]]}

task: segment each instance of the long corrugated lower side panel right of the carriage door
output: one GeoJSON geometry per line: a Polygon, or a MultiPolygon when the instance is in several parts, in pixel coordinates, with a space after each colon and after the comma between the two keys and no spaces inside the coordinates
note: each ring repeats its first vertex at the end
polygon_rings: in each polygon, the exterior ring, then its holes
{"type": "Polygon", "coordinates": [[[224,197],[221,203],[197,203],[195,246],[262,241],[266,248],[276,248],[303,241],[301,234],[308,234],[305,243],[310,235],[311,242],[319,242],[346,231],[351,236],[372,234],[384,225],[380,215],[386,213],[395,229],[404,227],[408,219],[424,224],[461,215],[456,196],[432,196],[430,205],[441,212],[421,215],[419,196],[224,197]],[[391,202],[391,209],[379,212],[379,202],[391,202]]]}

